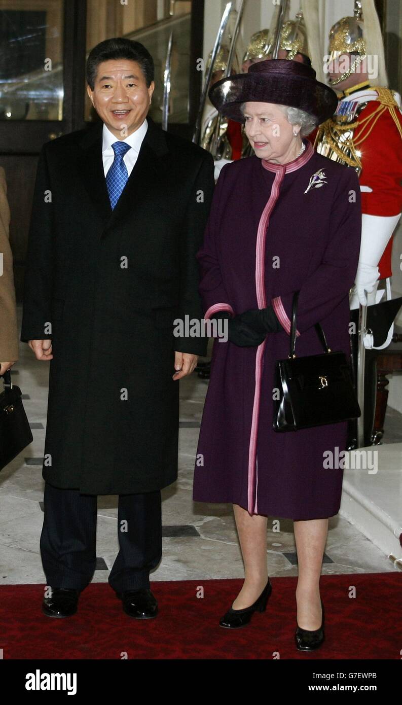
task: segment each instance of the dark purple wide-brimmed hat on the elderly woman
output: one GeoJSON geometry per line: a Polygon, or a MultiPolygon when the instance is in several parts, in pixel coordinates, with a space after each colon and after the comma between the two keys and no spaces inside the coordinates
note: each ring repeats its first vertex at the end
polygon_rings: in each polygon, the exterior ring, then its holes
{"type": "Polygon", "coordinates": [[[248,101],[299,108],[319,124],[333,116],[338,104],[337,94],[316,80],[313,68],[289,59],[253,63],[248,73],[216,82],[208,95],[218,111],[239,123],[244,123],[241,104],[248,101]]]}

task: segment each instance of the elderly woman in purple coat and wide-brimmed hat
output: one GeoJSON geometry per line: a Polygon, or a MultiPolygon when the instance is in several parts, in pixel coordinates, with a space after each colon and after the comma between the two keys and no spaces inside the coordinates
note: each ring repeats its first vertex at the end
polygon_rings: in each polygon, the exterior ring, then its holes
{"type": "Polygon", "coordinates": [[[297,355],[349,355],[348,291],[360,249],[360,190],[353,169],[316,154],[303,139],[334,113],[337,98],[296,61],[256,63],[220,80],[211,102],[245,123],[255,154],[222,168],[199,251],[205,318],[227,317],[215,339],[203,411],[194,500],[232,503],[245,580],[222,627],[243,627],[265,610],[267,516],[294,520],[299,563],[296,646],[324,639],[320,572],[328,517],[341,501],[347,422],[291,433],[273,429],[275,361],[289,354],[299,291],[297,355]],[[201,460],[202,459],[202,462],[201,460]]]}

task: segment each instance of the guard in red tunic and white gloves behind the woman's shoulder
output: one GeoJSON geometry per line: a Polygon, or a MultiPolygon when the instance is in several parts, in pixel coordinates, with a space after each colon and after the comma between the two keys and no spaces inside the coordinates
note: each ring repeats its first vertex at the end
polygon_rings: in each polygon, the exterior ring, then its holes
{"type": "Polygon", "coordinates": [[[350,447],[353,448],[376,441],[373,434],[377,386],[375,356],[365,355],[365,348],[389,345],[399,308],[396,302],[396,305],[384,307],[381,316],[377,315],[382,324],[384,317],[386,320],[388,317],[388,321],[385,341],[374,345],[376,331],[370,306],[384,293],[377,292],[379,282],[385,285],[387,299],[391,298],[392,234],[402,209],[401,99],[386,87],[384,47],[374,0],[356,2],[354,16],[341,18],[332,27],[329,52],[330,85],[338,93],[339,104],[333,118],[321,125],[315,148],[325,157],[357,171],[363,214],[360,260],[350,305],[351,319],[355,323],[351,328],[351,345],[356,381],[359,375],[361,377],[358,391],[364,414],[359,422],[360,434],[356,427],[351,429],[350,447]],[[370,66],[372,59],[376,63],[370,66]],[[368,305],[365,316],[370,325],[358,326],[359,304],[368,305]],[[353,334],[359,327],[360,336],[353,334]],[[356,437],[359,435],[360,441],[356,437]]]}

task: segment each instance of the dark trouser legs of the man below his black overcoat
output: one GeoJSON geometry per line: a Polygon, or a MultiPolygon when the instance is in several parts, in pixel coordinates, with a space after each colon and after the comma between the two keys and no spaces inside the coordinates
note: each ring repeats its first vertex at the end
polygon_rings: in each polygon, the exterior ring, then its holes
{"type": "MultiPolygon", "coordinates": [[[[46,482],[40,550],[46,584],[82,591],[96,567],[97,496],[46,482]]],[[[116,592],[149,589],[162,556],[161,491],[119,495],[118,541],[108,582],[116,592]]]]}

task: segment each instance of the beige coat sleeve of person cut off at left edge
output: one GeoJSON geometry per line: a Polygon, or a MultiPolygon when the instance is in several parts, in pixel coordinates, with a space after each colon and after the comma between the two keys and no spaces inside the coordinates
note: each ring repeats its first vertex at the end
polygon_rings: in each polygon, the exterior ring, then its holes
{"type": "Polygon", "coordinates": [[[0,166],[0,362],[18,360],[17,310],[13,276],[13,255],[8,227],[6,174],[0,166]]]}

